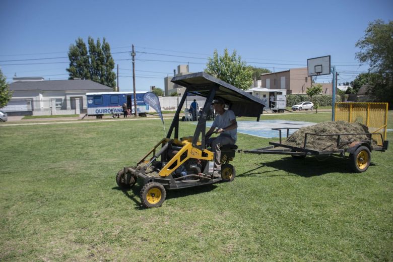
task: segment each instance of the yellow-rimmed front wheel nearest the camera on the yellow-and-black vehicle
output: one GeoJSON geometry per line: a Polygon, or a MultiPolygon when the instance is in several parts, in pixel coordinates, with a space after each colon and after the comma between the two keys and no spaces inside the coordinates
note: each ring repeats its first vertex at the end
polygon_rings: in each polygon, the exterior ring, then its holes
{"type": "Polygon", "coordinates": [[[145,184],[141,190],[142,204],[147,208],[156,208],[165,201],[166,192],[164,186],[157,182],[145,184]]]}

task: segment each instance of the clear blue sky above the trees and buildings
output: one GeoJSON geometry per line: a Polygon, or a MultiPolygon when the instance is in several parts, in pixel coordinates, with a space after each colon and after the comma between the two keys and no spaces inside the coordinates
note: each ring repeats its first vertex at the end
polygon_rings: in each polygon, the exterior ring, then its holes
{"type": "MultiPolygon", "coordinates": [[[[206,68],[215,49],[236,50],[242,60],[272,72],[307,66],[331,55],[350,82],[368,65],[356,60],[356,42],[376,19],[393,20],[393,1],[57,1],[0,0],[0,69],[17,77],[67,80],[68,50],[79,37],[110,44],[120,91],[164,89],[177,65],[206,68]]],[[[319,76],[318,83],[332,81],[319,76]]]]}

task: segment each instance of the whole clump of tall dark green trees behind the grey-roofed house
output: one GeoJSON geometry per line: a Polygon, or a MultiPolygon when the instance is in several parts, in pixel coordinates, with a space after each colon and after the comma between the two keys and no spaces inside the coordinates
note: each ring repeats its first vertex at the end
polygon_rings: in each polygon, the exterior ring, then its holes
{"type": "Polygon", "coordinates": [[[114,88],[116,86],[116,75],[113,72],[114,61],[110,53],[109,43],[100,39],[97,43],[94,39],[88,39],[89,53],[82,38],[76,40],[76,45],[71,45],[69,50],[70,73],[69,79],[89,79],[94,82],[114,88]]]}

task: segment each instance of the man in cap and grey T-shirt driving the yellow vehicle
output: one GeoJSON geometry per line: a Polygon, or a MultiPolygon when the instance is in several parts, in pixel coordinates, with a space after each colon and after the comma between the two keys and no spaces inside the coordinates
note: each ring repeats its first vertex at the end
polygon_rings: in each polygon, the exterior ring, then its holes
{"type": "Polygon", "coordinates": [[[212,101],[213,109],[218,115],[213,121],[212,127],[209,129],[206,136],[212,135],[216,129],[216,133],[220,134],[217,138],[209,139],[209,144],[212,145],[212,151],[215,153],[214,159],[214,173],[221,173],[221,147],[224,145],[234,145],[237,139],[237,122],[235,113],[232,110],[225,110],[225,102],[221,98],[216,98],[212,101]]]}

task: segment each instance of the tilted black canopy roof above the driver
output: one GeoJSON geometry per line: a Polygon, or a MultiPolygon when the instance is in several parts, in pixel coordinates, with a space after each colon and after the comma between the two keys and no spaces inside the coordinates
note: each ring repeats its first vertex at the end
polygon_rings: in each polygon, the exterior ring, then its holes
{"type": "Polygon", "coordinates": [[[186,87],[187,92],[203,97],[208,97],[210,90],[217,87],[215,97],[224,99],[236,116],[258,117],[265,107],[262,100],[205,72],[174,77],[171,81],[186,87]]]}

